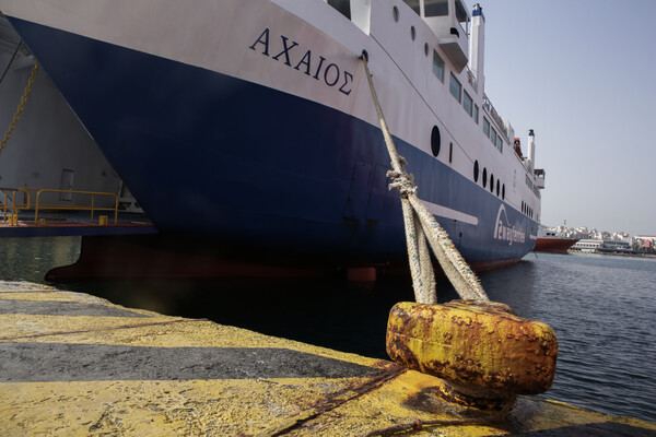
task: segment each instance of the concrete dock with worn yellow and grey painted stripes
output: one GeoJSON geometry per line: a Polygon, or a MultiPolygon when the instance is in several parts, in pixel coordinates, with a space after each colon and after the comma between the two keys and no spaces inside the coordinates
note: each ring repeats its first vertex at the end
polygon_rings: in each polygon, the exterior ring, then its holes
{"type": "Polygon", "coordinates": [[[656,436],[654,423],[531,397],[503,417],[456,416],[435,385],[390,362],[0,281],[1,436],[656,436]]]}

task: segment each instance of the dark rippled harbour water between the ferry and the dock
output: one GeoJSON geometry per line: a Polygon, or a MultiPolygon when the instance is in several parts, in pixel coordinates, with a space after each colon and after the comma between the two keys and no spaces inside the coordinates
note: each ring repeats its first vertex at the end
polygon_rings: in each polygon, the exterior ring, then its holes
{"type": "MultiPolygon", "coordinates": [[[[0,240],[0,277],[43,282],[73,262],[78,238],[0,240]]],[[[527,256],[481,275],[493,300],[549,323],[559,339],[555,380],[544,398],[656,422],[656,260],[595,255],[527,256]]],[[[271,335],[387,358],[389,308],[412,300],[409,281],[373,290],[321,281],[160,281],[62,285],[117,304],[206,317],[271,335]]],[[[457,298],[438,285],[441,302],[457,298]]]]}

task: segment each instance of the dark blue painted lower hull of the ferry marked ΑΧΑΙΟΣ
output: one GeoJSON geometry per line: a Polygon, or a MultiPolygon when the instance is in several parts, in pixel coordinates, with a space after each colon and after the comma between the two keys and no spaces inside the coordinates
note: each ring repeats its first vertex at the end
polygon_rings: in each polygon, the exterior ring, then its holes
{"type": "MultiPolygon", "coordinates": [[[[344,260],[407,256],[379,128],[219,72],[11,19],[162,233],[344,260]]],[[[503,200],[395,139],[419,197],[476,265],[516,261],[537,223],[505,203],[524,240],[495,238],[503,200]]]]}

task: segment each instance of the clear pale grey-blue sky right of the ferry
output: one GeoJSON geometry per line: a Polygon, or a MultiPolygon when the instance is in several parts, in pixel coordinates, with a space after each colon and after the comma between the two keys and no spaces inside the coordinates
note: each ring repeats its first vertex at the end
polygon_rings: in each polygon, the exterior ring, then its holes
{"type": "Polygon", "coordinates": [[[541,223],[656,235],[656,0],[479,3],[485,94],[536,133],[541,223]]]}

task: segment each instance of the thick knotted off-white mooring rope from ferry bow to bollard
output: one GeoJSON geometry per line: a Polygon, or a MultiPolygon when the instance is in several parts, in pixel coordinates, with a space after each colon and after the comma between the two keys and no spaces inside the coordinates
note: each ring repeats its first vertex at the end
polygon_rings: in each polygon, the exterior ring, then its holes
{"type": "Polygon", "coordinates": [[[426,246],[426,239],[435,253],[435,258],[446,273],[458,295],[464,299],[489,300],[480,281],[462,259],[448,234],[437,223],[433,214],[421,203],[417,197],[417,186],[412,175],[408,175],[403,167],[406,160],[400,156],[394,144],[389,127],[385,121],[378,96],[374,86],[372,74],[368,70],[366,55],[361,59],[364,62],[364,71],[368,81],[387,152],[391,160],[391,172],[387,176],[393,179],[389,189],[397,188],[401,192],[401,205],[403,209],[403,222],[406,225],[406,241],[408,244],[408,258],[412,274],[412,286],[414,298],[420,304],[436,304],[435,273],[431,262],[431,255],[426,246]]]}

